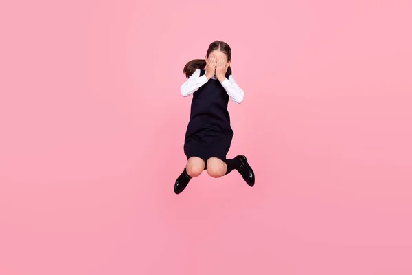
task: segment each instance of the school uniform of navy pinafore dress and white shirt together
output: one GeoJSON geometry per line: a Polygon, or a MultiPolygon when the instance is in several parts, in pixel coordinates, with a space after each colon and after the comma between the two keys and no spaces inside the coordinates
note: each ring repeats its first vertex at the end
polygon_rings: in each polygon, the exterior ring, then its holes
{"type": "Polygon", "coordinates": [[[218,157],[225,160],[233,138],[227,111],[229,98],[240,104],[244,92],[229,74],[220,83],[216,77],[207,80],[205,73],[204,69],[196,69],[181,86],[183,96],[193,94],[183,148],[187,159],[200,157],[206,161],[218,157]]]}

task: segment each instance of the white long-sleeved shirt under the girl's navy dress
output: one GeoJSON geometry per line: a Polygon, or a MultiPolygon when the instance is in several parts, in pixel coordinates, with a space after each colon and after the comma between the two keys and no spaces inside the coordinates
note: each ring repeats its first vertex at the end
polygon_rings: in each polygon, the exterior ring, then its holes
{"type": "MultiPolygon", "coordinates": [[[[201,70],[196,69],[192,76],[190,76],[190,78],[188,78],[185,83],[182,84],[182,96],[190,96],[200,87],[202,87],[202,85],[207,83],[207,81],[208,79],[206,77],[206,74],[203,74],[203,76],[201,76],[201,70]]],[[[235,78],[233,78],[232,75],[229,76],[229,79],[225,78],[225,80],[223,80],[221,84],[223,88],[225,88],[226,93],[229,95],[233,102],[236,102],[238,104],[242,103],[244,98],[244,91],[240,89],[238,83],[236,83],[235,78]]]]}

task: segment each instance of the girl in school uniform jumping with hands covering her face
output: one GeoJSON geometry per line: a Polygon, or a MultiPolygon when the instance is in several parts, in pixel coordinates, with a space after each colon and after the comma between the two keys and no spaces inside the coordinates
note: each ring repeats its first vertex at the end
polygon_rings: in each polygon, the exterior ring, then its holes
{"type": "Polygon", "coordinates": [[[184,145],[187,164],[174,184],[176,194],[203,170],[218,178],[236,169],[249,186],[255,184],[255,175],[244,155],[226,158],[233,137],[227,104],[229,98],[240,104],[244,96],[231,75],[230,63],[229,45],[214,41],[207,49],[205,60],[189,61],[183,69],[188,79],[181,86],[181,94],[193,94],[193,98],[184,145]]]}

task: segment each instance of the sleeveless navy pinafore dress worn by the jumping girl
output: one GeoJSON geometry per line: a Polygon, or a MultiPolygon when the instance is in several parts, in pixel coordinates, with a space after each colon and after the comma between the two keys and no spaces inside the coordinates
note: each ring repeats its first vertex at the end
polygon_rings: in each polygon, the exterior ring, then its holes
{"type": "MultiPolygon", "coordinates": [[[[204,74],[205,70],[201,69],[201,76],[204,74]]],[[[226,74],[226,78],[229,78],[229,74],[226,74]]],[[[228,103],[229,95],[218,79],[210,78],[194,92],[185,135],[184,151],[187,159],[226,159],[233,137],[228,103]]]]}

